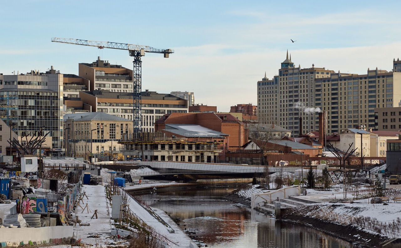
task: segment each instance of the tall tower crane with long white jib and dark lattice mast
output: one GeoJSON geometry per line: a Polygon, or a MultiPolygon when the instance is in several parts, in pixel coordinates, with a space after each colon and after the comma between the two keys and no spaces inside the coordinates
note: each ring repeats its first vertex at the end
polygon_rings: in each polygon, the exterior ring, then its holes
{"type": "Polygon", "coordinates": [[[164,58],[168,58],[174,50],[171,49],[159,49],[151,46],[141,46],[134,44],[125,44],[117,42],[104,42],[104,41],[93,41],[93,40],[79,40],[69,38],[52,38],[52,42],[59,42],[65,44],[74,44],[81,46],[94,46],[99,49],[113,48],[119,50],[128,50],[130,56],[134,57],[134,78],[133,78],[133,92],[134,92],[134,109],[133,109],[133,121],[134,121],[134,136],[139,136],[142,131],[142,107],[141,107],[141,91],[142,91],[142,60],[141,57],[145,56],[145,52],[160,53],[164,54],[164,58]]]}

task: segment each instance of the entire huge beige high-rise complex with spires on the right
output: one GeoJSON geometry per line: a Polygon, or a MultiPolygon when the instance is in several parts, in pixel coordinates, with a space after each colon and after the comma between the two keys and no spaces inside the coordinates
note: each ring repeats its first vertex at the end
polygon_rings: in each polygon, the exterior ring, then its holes
{"type": "MultiPolygon", "coordinates": [[[[375,125],[375,108],[390,108],[401,100],[401,62],[393,60],[393,72],[370,70],[367,74],[335,73],[325,68],[294,67],[291,57],[282,63],[279,76],[257,82],[261,117],[299,135],[318,130],[317,113],[327,113],[327,133],[375,125]],[[278,98],[278,100],[276,100],[278,98]]],[[[260,116],[259,116],[260,118],[260,116]]]]}

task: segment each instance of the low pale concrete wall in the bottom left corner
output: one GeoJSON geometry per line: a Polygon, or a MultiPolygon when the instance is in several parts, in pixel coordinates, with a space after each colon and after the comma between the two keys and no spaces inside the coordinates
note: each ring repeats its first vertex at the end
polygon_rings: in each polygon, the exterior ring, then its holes
{"type": "Polygon", "coordinates": [[[28,244],[29,241],[43,241],[47,243],[61,243],[62,239],[73,236],[73,226],[49,226],[38,228],[1,228],[0,242],[6,242],[7,246],[19,246],[20,242],[28,244]]]}

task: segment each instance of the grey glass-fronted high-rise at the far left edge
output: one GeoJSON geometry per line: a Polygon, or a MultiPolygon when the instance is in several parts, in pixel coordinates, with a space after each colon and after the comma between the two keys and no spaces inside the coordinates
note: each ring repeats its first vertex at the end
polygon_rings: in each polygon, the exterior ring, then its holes
{"type": "MultiPolygon", "coordinates": [[[[26,134],[34,136],[41,128],[44,134],[49,132],[42,150],[46,155],[60,155],[63,150],[63,74],[53,67],[46,73],[0,74],[0,118],[7,126],[12,126],[19,139],[26,134]]],[[[9,146],[2,146],[2,154],[10,154],[9,150],[9,146]]]]}

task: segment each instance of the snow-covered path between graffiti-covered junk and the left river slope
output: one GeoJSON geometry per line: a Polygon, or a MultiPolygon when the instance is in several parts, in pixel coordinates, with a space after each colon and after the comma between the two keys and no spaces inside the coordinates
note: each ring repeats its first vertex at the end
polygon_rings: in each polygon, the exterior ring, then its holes
{"type": "Polygon", "coordinates": [[[109,208],[106,200],[105,188],[102,185],[84,185],[81,192],[85,192],[89,199],[84,197],[81,206],[85,208],[86,204],[89,206],[89,213],[87,209],[82,212],[80,207],[77,207],[73,217],[78,216],[79,220],[83,223],[88,223],[90,226],[75,226],[74,234],[77,239],[82,239],[81,242],[85,244],[109,244],[113,242],[110,236],[111,220],[109,208]],[[93,213],[97,210],[97,219],[91,219],[93,213]],[[99,237],[97,237],[97,235],[99,237]],[[89,236],[93,236],[90,238],[89,236]]]}

